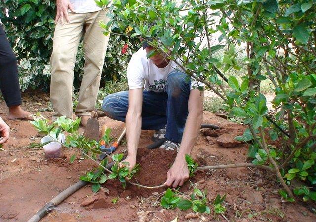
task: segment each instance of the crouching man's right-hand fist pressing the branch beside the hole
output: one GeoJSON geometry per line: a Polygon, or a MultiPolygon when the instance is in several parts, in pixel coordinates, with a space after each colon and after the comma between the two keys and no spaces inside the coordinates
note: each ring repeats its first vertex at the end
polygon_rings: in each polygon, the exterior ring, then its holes
{"type": "Polygon", "coordinates": [[[167,173],[167,180],[164,182],[164,185],[176,188],[178,186],[182,186],[188,178],[189,169],[185,158],[176,158],[172,167],[167,173]]]}

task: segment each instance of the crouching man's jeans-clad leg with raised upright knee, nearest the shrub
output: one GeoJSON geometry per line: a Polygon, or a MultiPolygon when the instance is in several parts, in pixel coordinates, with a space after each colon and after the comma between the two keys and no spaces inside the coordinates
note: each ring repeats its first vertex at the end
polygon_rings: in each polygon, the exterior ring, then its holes
{"type": "Polygon", "coordinates": [[[174,71],[167,77],[167,128],[165,138],[180,143],[188,117],[190,80],[187,74],[174,71]]]}

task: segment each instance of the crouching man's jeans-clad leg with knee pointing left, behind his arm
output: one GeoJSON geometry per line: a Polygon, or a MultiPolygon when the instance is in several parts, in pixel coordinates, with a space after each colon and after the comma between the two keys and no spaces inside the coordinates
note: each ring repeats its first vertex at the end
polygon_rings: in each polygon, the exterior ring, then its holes
{"type": "MultiPolygon", "coordinates": [[[[166,102],[166,93],[143,91],[143,130],[158,130],[165,126],[167,121],[166,102]]],[[[128,111],[128,91],[106,96],[103,100],[102,109],[109,118],[125,122],[128,111]]]]}

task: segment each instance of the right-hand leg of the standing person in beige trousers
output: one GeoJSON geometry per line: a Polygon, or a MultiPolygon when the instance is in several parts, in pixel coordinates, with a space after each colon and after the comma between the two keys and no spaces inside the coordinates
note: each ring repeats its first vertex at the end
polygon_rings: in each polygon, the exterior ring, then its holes
{"type": "Polygon", "coordinates": [[[100,21],[106,24],[109,20],[106,13],[104,10],[87,13],[85,20],[84,74],[79,91],[78,105],[75,111],[77,116],[82,116],[82,125],[86,124],[90,112],[95,108],[100,87],[104,57],[110,37],[110,35],[105,36],[103,34],[104,30],[100,26],[100,21]]]}

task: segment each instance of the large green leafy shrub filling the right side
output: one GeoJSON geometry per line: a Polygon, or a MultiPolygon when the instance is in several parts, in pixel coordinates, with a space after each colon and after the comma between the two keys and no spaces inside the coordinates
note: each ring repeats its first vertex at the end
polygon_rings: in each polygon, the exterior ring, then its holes
{"type": "Polygon", "coordinates": [[[110,12],[106,34],[150,38],[149,57],[166,54],[223,99],[228,117],[248,126],[238,139],[249,157],[275,169],[283,193],[293,198],[293,180],[316,185],[315,0],[114,0],[110,12]],[[234,70],[240,80],[228,77],[234,70]],[[266,79],[272,111],[260,93],[266,79]]]}

